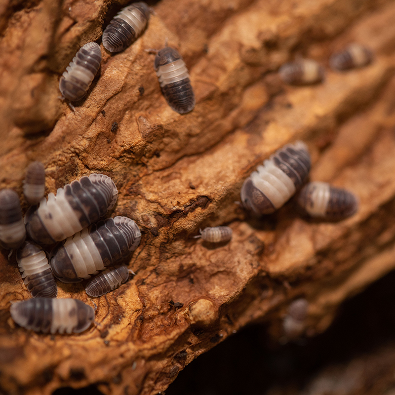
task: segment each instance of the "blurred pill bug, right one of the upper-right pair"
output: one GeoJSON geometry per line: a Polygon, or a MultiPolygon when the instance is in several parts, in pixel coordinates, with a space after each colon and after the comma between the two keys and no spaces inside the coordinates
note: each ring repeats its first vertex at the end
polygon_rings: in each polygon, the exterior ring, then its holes
{"type": "Polygon", "coordinates": [[[370,49],[361,44],[350,44],[345,50],[334,53],[329,59],[329,65],[333,70],[350,70],[363,67],[373,60],[370,49]]]}

